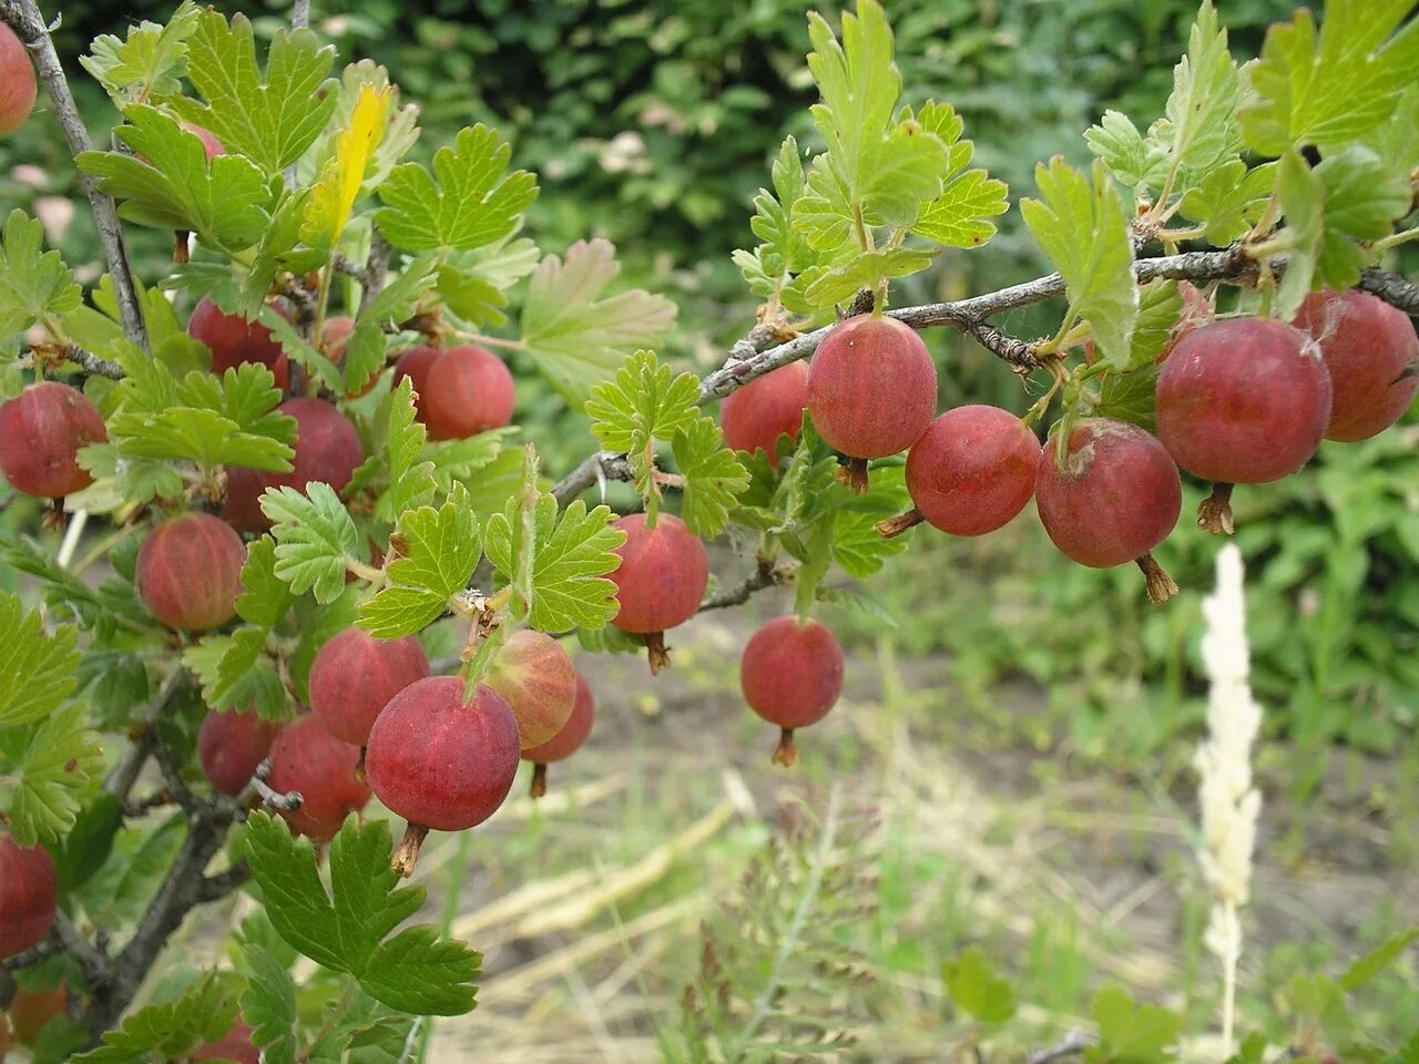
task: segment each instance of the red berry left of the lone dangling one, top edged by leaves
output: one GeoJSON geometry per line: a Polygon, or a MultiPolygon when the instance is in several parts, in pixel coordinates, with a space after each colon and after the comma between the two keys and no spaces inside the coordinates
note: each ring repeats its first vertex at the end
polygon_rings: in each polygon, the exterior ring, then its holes
{"type": "Polygon", "coordinates": [[[695,616],[710,586],[705,545],[674,514],[661,514],[647,528],[644,514],[616,522],[626,542],[616,549],[622,563],[610,579],[620,610],[612,621],[622,631],[648,636],[695,616]]]}

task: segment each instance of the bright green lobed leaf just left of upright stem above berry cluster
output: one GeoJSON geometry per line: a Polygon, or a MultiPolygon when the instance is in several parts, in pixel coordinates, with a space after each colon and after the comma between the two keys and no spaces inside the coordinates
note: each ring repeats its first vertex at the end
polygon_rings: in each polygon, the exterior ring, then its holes
{"type": "Polygon", "coordinates": [[[359,624],[383,640],[410,636],[438,620],[468,586],[482,536],[468,489],[454,484],[443,506],[406,511],[390,538],[387,583],[359,610],[359,624]]]}

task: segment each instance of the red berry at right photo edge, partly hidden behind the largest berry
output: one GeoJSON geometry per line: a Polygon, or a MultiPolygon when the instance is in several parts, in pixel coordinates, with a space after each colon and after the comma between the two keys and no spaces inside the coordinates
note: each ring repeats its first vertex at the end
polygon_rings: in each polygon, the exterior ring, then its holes
{"type": "Polygon", "coordinates": [[[1369,292],[1313,292],[1294,323],[1320,343],[1331,375],[1327,440],[1368,440],[1409,409],[1419,336],[1403,311],[1369,292]]]}

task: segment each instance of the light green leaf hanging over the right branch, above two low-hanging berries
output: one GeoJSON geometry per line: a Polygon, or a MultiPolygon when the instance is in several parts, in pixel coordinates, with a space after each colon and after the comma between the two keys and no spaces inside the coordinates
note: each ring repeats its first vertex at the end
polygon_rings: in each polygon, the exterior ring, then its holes
{"type": "Polygon", "coordinates": [[[1128,216],[1103,163],[1093,182],[1056,156],[1034,169],[1040,200],[1022,200],[1025,224],[1064,278],[1070,315],[1088,321],[1098,356],[1128,363],[1138,289],[1128,216]]]}

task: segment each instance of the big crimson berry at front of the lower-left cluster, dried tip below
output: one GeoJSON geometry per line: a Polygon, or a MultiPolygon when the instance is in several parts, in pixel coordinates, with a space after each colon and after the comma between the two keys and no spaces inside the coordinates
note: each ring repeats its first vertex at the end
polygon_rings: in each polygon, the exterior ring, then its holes
{"type": "Polygon", "coordinates": [[[410,684],[375,721],[365,752],[369,783],[393,813],[434,831],[463,831],[492,816],[518,775],[518,724],[502,697],[463,680],[410,684]]]}

